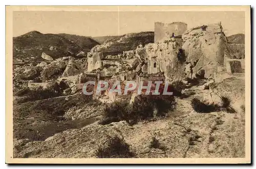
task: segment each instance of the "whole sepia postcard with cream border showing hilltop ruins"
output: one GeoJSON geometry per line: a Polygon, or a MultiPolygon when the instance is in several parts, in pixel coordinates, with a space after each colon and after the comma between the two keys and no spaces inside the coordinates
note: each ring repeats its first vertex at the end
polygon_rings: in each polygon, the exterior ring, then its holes
{"type": "Polygon", "coordinates": [[[6,6],[7,163],[250,163],[250,6],[6,6]]]}

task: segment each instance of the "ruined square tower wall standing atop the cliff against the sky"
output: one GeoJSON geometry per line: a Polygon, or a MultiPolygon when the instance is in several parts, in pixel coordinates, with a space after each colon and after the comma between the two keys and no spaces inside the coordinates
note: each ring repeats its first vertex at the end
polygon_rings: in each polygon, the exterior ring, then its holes
{"type": "Polygon", "coordinates": [[[162,41],[166,36],[172,37],[174,33],[175,36],[182,35],[187,30],[187,24],[184,22],[173,22],[173,23],[162,23],[155,22],[155,43],[162,41]]]}

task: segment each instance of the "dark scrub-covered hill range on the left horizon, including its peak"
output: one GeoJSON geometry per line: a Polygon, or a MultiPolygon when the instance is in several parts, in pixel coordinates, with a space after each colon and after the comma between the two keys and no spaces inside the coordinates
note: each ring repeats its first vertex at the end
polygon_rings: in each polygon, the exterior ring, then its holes
{"type": "Polygon", "coordinates": [[[13,58],[42,61],[42,52],[52,58],[76,56],[79,52],[88,52],[98,44],[91,38],[76,35],[42,34],[32,31],[13,37],[13,58]],[[66,38],[67,37],[67,38],[66,38]]]}

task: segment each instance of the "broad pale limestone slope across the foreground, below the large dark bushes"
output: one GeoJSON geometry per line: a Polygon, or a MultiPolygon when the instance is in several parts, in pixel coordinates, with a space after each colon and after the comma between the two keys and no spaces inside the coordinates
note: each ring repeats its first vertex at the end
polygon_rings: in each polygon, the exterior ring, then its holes
{"type": "Polygon", "coordinates": [[[109,125],[94,123],[57,133],[45,141],[28,142],[14,157],[95,158],[95,152],[109,136],[118,136],[130,145],[134,158],[243,158],[245,125],[233,116],[226,112],[219,117],[213,113],[190,113],[173,120],[133,126],[124,121],[109,125]],[[211,127],[218,130],[212,132],[211,127]],[[210,133],[214,137],[211,142],[210,133]],[[159,147],[151,146],[153,137],[159,147]]]}

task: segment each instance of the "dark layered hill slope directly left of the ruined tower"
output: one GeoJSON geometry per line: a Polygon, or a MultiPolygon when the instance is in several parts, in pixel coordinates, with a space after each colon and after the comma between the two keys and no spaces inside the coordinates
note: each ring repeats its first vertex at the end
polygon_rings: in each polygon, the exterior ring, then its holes
{"type": "Polygon", "coordinates": [[[117,55],[122,54],[123,51],[135,50],[139,44],[143,46],[147,43],[154,43],[154,32],[140,32],[130,33],[118,36],[101,44],[95,46],[93,51],[103,52],[103,55],[117,55]]]}

